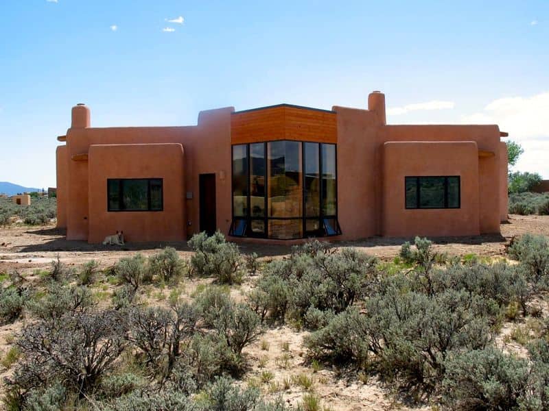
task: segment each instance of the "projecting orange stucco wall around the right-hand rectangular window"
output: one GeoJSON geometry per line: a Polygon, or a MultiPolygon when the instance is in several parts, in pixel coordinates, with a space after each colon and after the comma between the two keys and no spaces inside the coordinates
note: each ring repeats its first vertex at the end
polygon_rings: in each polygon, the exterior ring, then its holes
{"type": "Polygon", "coordinates": [[[480,234],[476,142],[386,142],[383,174],[383,236],[480,234]],[[423,175],[459,175],[460,208],[406,209],[405,177],[423,175]]]}

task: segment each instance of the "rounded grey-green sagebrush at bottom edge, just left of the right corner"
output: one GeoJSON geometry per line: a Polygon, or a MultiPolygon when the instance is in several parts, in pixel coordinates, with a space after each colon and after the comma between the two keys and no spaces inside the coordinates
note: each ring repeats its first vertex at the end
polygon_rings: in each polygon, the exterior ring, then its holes
{"type": "Polygon", "coordinates": [[[452,353],[445,361],[443,403],[454,410],[519,410],[528,362],[494,347],[452,353]]]}

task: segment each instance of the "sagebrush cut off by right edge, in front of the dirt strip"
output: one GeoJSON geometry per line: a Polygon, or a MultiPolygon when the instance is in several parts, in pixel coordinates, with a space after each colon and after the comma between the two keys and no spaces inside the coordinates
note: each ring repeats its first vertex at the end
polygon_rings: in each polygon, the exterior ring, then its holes
{"type": "Polygon", "coordinates": [[[515,239],[507,250],[526,269],[528,279],[536,286],[549,286],[549,239],[546,236],[524,234],[515,239]]]}

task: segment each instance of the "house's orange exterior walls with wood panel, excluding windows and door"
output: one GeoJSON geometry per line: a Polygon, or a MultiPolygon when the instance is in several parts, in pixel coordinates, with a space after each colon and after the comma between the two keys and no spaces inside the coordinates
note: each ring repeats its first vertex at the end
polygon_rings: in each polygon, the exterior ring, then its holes
{"type": "Polygon", "coordinates": [[[339,239],[496,233],[506,218],[498,126],[386,125],[385,96],[373,92],[367,110],[229,107],[200,112],[197,125],[185,127],[95,128],[89,108],[78,105],[57,151],[58,225],[67,238],[90,242],[117,229],[131,241],[188,238],[200,230],[200,174],[214,173],[215,223],[228,234],[231,144],[280,139],[337,142],[339,239]],[[106,179],[121,175],[165,176],[173,190],[165,184],[163,215],[107,212],[106,179]],[[406,210],[404,175],[461,175],[462,208],[406,210]]]}

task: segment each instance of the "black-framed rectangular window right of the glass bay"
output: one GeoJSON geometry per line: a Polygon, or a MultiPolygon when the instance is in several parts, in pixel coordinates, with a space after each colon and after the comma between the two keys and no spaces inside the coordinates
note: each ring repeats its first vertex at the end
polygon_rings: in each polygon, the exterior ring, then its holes
{"type": "Polygon", "coordinates": [[[406,208],[460,208],[460,177],[405,177],[406,208]]]}

